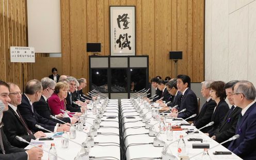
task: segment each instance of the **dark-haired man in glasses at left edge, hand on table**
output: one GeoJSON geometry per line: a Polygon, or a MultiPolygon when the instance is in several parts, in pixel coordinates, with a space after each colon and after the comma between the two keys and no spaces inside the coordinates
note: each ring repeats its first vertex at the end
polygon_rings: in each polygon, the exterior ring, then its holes
{"type": "MultiPolygon", "coordinates": [[[[9,85],[0,80],[0,159],[2,160],[27,160],[41,159],[43,151],[39,148],[31,148],[25,150],[22,148],[11,146],[3,131],[4,124],[2,123],[3,111],[8,110],[9,98],[9,85]]],[[[42,145],[38,146],[42,147],[42,145]]]]}

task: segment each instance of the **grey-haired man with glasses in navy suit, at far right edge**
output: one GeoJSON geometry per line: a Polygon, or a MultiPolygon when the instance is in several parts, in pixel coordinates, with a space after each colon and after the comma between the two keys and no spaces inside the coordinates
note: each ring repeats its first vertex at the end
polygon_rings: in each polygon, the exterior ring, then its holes
{"type": "Polygon", "coordinates": [[[249,81],[238,81],[233,90],[235,105],[242,108],[235,134],[228,149],[244,160],[256,159],[256,91],[249,81]]]}

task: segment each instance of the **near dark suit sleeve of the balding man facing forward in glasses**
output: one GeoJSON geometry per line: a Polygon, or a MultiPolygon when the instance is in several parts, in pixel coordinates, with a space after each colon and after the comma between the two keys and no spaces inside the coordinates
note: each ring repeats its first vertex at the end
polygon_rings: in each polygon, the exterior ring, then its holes
{"type": "MultiPolygon", "coordinates": [[[[4,116],[3,116],[3,122],[5,123],[4,132],[6,133],[6,137],[9,140],[10,144],[12,144],[13,146],[23,148],[23,147],[26,147],[28,144],[23,143],[15,138],[15,136],[18,135],[17,130],[20,129],[17,127],[16,119],[17,118],[14,117],[13,114],[11,114],[11,111],[7,111],[4,113],[4,116]]],[[[31,139],[36,139],[34,135],[19,135],[19,136],[27,141],[30,141],[31,139]]]]}

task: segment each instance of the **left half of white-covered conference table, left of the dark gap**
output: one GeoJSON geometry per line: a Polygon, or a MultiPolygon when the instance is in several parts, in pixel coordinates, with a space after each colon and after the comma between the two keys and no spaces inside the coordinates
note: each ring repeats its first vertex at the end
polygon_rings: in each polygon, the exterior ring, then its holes
{"type": "MultiPolygon", "coordinates": [[[[99,108],[99,106],[97,106],[99,108]]],[[[119,121],[118,121],[118,100],[108,100],[106,106],[106,112],[103,114],[104,117],[101,118],[102,122],[100,123],[100,128],[98,129],[98,135],[94,137],[94,147],[89,151],[90,159],[120,159],[120,139],[119,139],[119,121]],[[108,117],[116,117],[113,119],[108,119],[108,117]]],[[[88,117],[95,118],[96,115],[93,115],[92,111],[88,110],[88,117]]],[[[87,118],[86,120],[89,123],[93,123],[93,119],[87,118]]],[[[90,130],[89,123],[86,123],[84,132],[88,133],[90,130]]],[[[76,143],[81,144],[86,140],[86,133],[76,130],[76,138],[71,139],[76,143]]],[[[47,137],[52,137],[53,133],[46,133],[47,137]]],[[[54,137],[54,140],[43,140],[39,141],[36,139],[32,143],[39,145],[43,143],[43,149],[49,151],[51,144],[55,144],[57,150],[57,155],[63,159],[74,159],[77,153],[81,150],[81,146],[69,141],[69,147],[67,149],[61,148],[61,137],[54,137]]],[[[29,145],[26,149],[29,149],[33,146],[29,145]]],[[[47,160],[49,154],[47,152],[43,153],[42,159],[47,160]]],[[[60,158],[58,158],[60,159],[60,158]]]]}

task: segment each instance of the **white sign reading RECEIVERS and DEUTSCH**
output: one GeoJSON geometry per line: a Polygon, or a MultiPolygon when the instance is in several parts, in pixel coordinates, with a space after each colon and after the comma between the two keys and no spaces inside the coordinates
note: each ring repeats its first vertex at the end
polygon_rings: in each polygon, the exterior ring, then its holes
{"type": "Polygon", "coordinates": [[[11,62],[31,62],[35,63],[34,47],[10,47],[11,62]]]}

